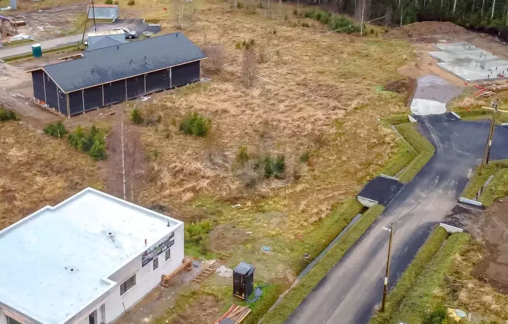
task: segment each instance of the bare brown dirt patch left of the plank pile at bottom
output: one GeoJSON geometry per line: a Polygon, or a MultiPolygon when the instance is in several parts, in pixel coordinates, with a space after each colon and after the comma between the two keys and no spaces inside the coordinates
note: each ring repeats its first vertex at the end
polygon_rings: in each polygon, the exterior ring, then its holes
{"type": "Polygon", "coordinates": [[[185,311],[173,317],[174,324],[202,324],[211,323],[222,308],[222,303],[215,297],[200,296],[185,311]]]}

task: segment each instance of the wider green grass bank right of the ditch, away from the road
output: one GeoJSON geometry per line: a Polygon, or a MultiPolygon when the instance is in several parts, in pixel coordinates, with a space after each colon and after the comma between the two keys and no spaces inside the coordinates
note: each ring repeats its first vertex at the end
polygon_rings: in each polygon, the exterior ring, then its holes
{"type": "Polygon", "coordinates": [[[453,258],[459,254],[469,243],[470,236],[466,233],[454,233],[450,235],[440,251],[428,263],[425,270],[417,278],[416,284],[411,287],[407,296],[404,297],[400,306],[392,313],[391,319],[377,321],[372,319],[370,323],[421,323],[422,318],[432,312],[437,306],[444,303],[446,298],[445,278],[451,276],[453,258]]]}

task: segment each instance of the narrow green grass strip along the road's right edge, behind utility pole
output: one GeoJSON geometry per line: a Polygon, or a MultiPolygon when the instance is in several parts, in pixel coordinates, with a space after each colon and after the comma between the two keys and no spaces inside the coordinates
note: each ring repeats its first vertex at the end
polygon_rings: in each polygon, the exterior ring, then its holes
{"type": "Polygon", "coordinates": [[[385,312],[377,312],[376,316],[370,320],[370,324],[384,324],[394,322],[391,320],[393,313],[399,308],[402,301],[414,288],[418,277],[425,270],[425,267],[432,260],[432,257],[439,251],[444,240],[448,236],[447,231],[442,227],[437,227],[430,234],[425,244],[418,250],[411,264],[404,271],[404,274],[397,282],[395,288],[390,291],[385,305],[385,312]]]}

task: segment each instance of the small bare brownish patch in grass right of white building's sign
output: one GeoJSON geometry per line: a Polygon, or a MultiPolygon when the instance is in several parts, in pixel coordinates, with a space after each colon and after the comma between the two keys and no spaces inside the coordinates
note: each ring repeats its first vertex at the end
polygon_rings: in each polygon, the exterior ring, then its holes
{"type": "Polygon", "coordinates": [[[232,251],[249,236],[245,229],[236,226],[234,223],[215,226],[209,235],[210,248],[215,252],[232,251]]]}

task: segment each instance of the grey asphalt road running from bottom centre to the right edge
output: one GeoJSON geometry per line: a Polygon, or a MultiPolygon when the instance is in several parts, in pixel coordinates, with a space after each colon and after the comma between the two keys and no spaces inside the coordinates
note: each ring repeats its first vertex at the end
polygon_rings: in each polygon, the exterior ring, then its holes
{"type": "MultiPolygon", "coordinates": [[[[425,242],[433,225],[450,214],[479,163],[490,122],[422,117],[420,131],[434,144],[434,157],[407,184],[360,240],[308,294],[286,323],[363,324],[383,294],[389,232],[394,225],[389,288],[425,242]],[[432,124],[433,122],[437,122],[432,124]]],[[[491,160],[508,158],[508,130],[496,127],[491,160]]]]}

